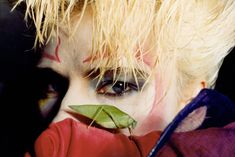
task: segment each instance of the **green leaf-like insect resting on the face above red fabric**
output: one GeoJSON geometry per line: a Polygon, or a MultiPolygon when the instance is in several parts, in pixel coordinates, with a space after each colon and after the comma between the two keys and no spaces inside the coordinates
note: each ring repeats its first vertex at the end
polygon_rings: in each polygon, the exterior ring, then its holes
{"type": "Polygon", "coordinates": [[[71,105],[69,106],[76,113],[79,113],[92,122],[99,124],[107,129],[124,129],[128,128],[131,132],[137,122],[125,112],[111,105],[71,105]]]}

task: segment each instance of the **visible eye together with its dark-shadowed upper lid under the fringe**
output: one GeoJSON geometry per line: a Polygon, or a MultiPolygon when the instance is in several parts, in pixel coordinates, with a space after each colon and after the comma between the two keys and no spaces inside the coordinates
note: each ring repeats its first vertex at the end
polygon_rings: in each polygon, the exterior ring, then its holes
{"type": "Polygon", "coordinates": [[[99,69],[92,69],[86,73],[86,76],[97,94],[124,96],[132,92],[141,91],[146,82],[143,76],[147,74],[138,69],[135,69],[135,73],[123,73],[120,69],[107,70],[104,73],[102,72],[102,75],[100,75],[99,69]]]}

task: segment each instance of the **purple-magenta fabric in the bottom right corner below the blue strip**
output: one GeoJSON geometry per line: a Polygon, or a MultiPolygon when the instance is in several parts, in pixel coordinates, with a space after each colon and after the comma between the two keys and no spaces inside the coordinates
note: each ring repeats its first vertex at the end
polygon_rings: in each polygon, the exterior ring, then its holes
{"type": "Polygon", "coordinates": [[[234,157],[235,122],[224,128],[174,133],[157,157],[234,157]]]}

